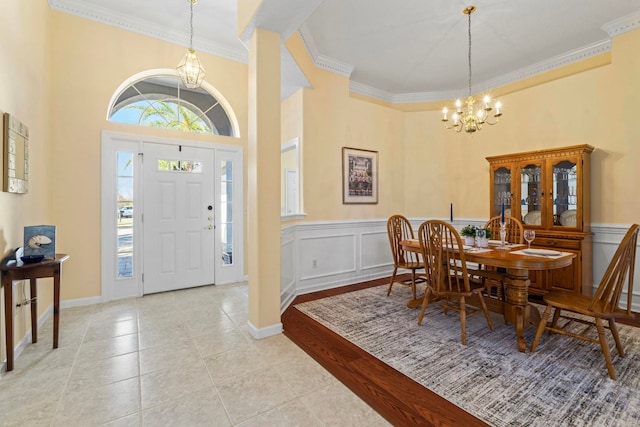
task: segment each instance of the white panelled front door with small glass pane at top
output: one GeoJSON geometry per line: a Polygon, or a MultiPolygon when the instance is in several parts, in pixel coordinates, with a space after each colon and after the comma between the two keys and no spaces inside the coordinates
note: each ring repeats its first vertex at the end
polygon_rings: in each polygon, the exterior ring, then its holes
{"type": "Polygon", "coordinates": [[[144,294],[215,282],[214,150],[144,143],[144,294]]]}

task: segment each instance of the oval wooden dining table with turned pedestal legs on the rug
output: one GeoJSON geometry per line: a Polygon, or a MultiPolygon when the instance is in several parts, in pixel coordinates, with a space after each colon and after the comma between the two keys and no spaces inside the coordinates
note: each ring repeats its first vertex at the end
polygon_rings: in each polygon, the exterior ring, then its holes
{"type": "MultiPolygon", "coordinates": [[[[407,251],[422,252],[417,239],[400,242],[407,251]]],[[[465,260],[492,267],[502,267],[509,277],[506,285],[505,301],[500,303],[502,314],[507,323],[515,325],[518,350],[525,352],[527,345],[524,339],[524,328],[531,321],[531,305],[529,304],[529,271],[547,271],[568,267],[576,257],[572,252],[560,252],[526,246],[513,247],[511,250],[500,250],[495,247],[465,247],[465,260]]],[[[416,308],[422,305],[424,297],[410,300],[407,306],[416,308]]],[[[534,310],[537,310],[534,308],[534,310]]],[[[540,315],[535,316],[539,319],[540,315]]]]}

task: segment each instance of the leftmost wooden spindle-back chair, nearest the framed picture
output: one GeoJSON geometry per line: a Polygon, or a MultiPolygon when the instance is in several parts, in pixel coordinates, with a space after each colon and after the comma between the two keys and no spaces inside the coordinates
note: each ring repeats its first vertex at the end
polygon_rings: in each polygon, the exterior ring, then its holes
{"type": "Polygon", "coordinates": [[[389,282],[387,296],[391,295],[391,288],[393,287],[393,284],[400,283],[403,285],[409,285],[411,287],[413,299],[416,299],[416,270],[421,270],[424,268],[424,265],[420,259],[420,254],[417,252],[407,251],[400,244],[403,240],[415,239],[411,223],[402,215],[392,215],[387,220],[387,234],[389,235],[389,245],[391,246],[391,253],[393,255],[393,274],[391,275],[391,282],[389,282]],[[396,282],[398,269],[411,270],[410,284],[405,282],[396,282]]]}

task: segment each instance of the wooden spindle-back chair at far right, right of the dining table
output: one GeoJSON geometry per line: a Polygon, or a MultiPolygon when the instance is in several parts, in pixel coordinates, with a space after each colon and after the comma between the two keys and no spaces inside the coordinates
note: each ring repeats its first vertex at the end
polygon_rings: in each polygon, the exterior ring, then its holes
{"type": "Polygon", "coordinates": [[[634,224],[629,228],[627,234],[622,239],[616,253],[613,255],[607,271],[604,273],[600,285],[592,297],[585,295],[576,295],[568,291],[552,291],[544,296],[544,302],[547,308],[542,314],[538,331],[533,342],[531,343],[531,351],[535,351],[540,341],[540,336],[544,330],[549,333],[558,333],[568,335],[583,341],[594,344],[600,343],[604,360],[609,371],[611,379],[616,379],[615,369],[611,363],[611,355],[609,354],[609,344],[604,334],[605,329],[609,329],[616,343],[616,349],[620,357],[624,357],[624,350],[620,343],[618,330],[616,328],[615,319],[633,319],[631,312],[631,301],[633,296],[633,273],[636,258],[636,244],[638,240],[638,224],[634,224]],[[626,289],[625,289],[626,284],[626,289]],[[620,296],[623,292],[627,293],[626,308],[620,308],[620,296]],[[553,320],[547,323],[551,311],[555,309],[553,320]],[[574,315],[562,315],[562,312],[573,313],[574,315]],[[576,317],[575,314],[582,315],[576,317]],[[558,324],[558,320],[563,319],[566,322],[562,325],[558,324]],[[607,321],[608,325],[604,325],[607,321]],[[574,323],[586,324],[587,328],[577,331],[569,330],[574,323]],[[598,338],[587,333],[595,326],[598,338]]]}

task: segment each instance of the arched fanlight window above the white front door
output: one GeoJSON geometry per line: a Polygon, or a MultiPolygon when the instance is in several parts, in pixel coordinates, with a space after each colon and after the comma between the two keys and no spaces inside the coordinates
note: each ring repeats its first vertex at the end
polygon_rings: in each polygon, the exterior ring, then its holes
{"type": "Polygon", "coordinates": [[[237,137],[237,122],[229,112],[226,100],[206,82],[198,89],[188,89],[175,70],[155,70],[133,76],[118,88],[108,119],[237,137]]]}

